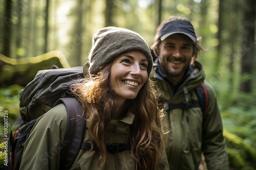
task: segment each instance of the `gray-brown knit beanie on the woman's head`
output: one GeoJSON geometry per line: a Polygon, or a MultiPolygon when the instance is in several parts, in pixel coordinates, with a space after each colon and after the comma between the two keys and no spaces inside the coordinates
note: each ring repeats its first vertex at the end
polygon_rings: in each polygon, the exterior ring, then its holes
{"type": "MultiPolygon", "coordinates": [[[[148,59],[147,74],[153,66],[150,48],[145,40],[131,30],[117,27],[100,29],[93,35],[92,48],[89,54],[90,76],[97,75],[100,68],[110,64],[113,60],[124,53],[140,51],[148,59]]],[[[88,70],[84,70],[86,75],[88,70]]]]}

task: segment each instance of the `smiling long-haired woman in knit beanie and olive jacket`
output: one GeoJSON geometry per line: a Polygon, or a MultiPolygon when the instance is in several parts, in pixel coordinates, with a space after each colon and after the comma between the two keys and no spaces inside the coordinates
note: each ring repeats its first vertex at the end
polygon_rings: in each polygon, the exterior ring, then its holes
{"type": "MultiPolygon", "coordinates": [[[[103,28],[93,36],[89,64],[89,74],[85,65],[85,78],[70,89],[87,120],[84,141],[98,150],[80,150],[71,169],[168,169],[162,112],[148,79],[153,61],[144,39],[127,29],[103,28]],[[130,150],[110,153],[105,144],[112,143],[128,143],[130,150]]],[[[59,169],[59,151],[50,156],[49,151],[59,147],[65,135],[63,112],[66,108],[60,104],[37,121],[25,144],[21,169],[59,169]],[[32,149],[35,156],[26,156],[32,149]]]]}

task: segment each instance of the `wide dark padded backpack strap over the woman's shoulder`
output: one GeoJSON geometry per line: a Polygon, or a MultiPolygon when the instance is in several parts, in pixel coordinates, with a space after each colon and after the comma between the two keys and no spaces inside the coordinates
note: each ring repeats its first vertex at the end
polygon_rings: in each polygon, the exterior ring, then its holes
{"type": "Polygon", "coordinates": [[[76,99],[61,98],[55,105],[60,103],[65,104],[67,108],[68,121],[67,131],[60,151],[59,169],[69,169],[80,150],[86,120],[82,117],[82,106],[76,99]]]}

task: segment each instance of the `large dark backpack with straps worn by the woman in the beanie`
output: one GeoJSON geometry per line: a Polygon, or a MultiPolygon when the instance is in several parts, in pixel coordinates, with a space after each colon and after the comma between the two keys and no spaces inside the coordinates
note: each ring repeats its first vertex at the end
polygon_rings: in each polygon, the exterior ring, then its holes
{"type": "MultiPolygon", "coordinates": [[[[89,67],[89,65],[87,64],[89,67]]],[[[60,151],[59,169],[69,169],[80,149],[98,151],[98,147],[91,143],[82,142],[86,120],[81,118],[83,111],[81,104],[73,98],[69,86],[79,78],[83,78],[83,67],[58,68],[40,70],[35,78],[20,91],[19,111],[22,118],[17,120],[13,128],[17,127],[14,135],[12,130],[8,139],[8,164],[4,169],[19,169],[23,149],[38,117],[51,108],[63,103],[67,108],[67,131],[60,151]],[[75,128],[74,128],[75,127],[75,128]]],[[[13,129],[12,128],[12,129],[13,129]]],[[[130,144],[106,144],[108,152],[116,153],[130,150],[130,144]]]]}

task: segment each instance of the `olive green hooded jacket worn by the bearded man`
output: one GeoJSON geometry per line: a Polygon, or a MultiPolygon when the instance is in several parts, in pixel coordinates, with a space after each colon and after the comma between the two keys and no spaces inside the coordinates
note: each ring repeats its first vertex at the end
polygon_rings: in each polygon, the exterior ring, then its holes
{"type": "Polygon", "coordinates": [[[202,65],[196,61],[196,67],[190,66],[189,73],[185,75],[174,93],[175,87],[161,76],[157,63],[154,65],[151,77],[156,82],[165,104],[179,104],[186,99],[198,102],[195,88],[202,82],[209,95],[209,105],[204,119],[200,107],[166,110],[165,150],[170,169],[198,170],[203,152],[209,170],[228,170],[226,141],[222,135],[222,120],[216,93],[211,85],[204,81],[202,65]]]}

